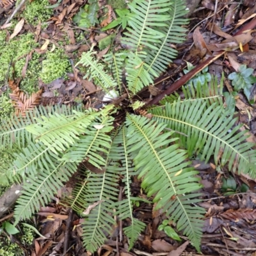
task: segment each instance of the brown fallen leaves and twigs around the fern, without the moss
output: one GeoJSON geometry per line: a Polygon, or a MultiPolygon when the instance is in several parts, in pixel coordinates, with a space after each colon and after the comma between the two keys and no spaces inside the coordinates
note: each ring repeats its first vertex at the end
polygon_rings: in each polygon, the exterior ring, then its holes
{"type": "MultiPolygon", "coordinates": [[[[253,29],[256,25],[254,13],[256,4],[252,5],[252,1],[244,1],[239,6],[238,11],[236,4],[225,3],[221,0],[217,3],[216,6],[214,1],[204,0],[194,10],[188,26],[189,33],[186,42],[175,45],[177,51],[179,51],[177,60],[170,63],[166,72],[156,79],[153,86],[140,93],[141,99],[148,101],[152,96],[160,99],[163,93],[170,92],[170,90],[166,90],[170,88],[173,81],[182,75],[182,69],[179,68],[183,67],[184,69],[186,61],[193,63],[195,67],[199,67],[200,63],[205,61],[205,64],[201,65],[203,67],[209,66],[210,74],[218,77],[221,77],[221,73],[224,72],[227,90],[232,92],[234,89],[227,79],[228,74],[239,70],[239,67],[245,64],[248,68],[253,68],[253,76],[255,76],[256,38],[253,29]],[[224,12],[225,8],[227,14],[224,12]],[[202,23],[202,20],[204,20],[204,23],[202,23]],[[220,29],[221,22],[225,25],[222,29],[220,29]],[[225,51],[224,57],[223,51],[225,51]],[[214,63],[209,61],[209,58],[213,55],[216,56],[216,54],[218,54],[218,58],[214,59],[214,63]],[[220,60],[220,58],[223,58],[223,60],[220,60]]],[[[95,45],[94,49],[97,51],[98,58],[102,58],[109,51],[110,46],[107,45],[105,49],[100,51],[100,40],[108,35],[121,34],[116,28],[110,28],[104,32],[100,30],[116,20],[115,10],[107,1],[88,1],[87,3],[87,1],[82,0],[49,0],[48,7],[54,10],[54,15],[49,20],[47,28],[45,26],[43,28],[41,22],[38,22],[35,28],[32,28],[31,24],[28,24],[26,20],[18,15],[17,24],[13,29],[11,29],[12,22],[10,22],[1,24],[1,30],[8,33],[8,40],[13,40],[13,38],[18,38],[32,29],[35,34],[35,42],[40,44],[40,47],[35,51],[41,54],[42,58],[44,58],[46,51],[54,52],[56,48],[61,48],[64,49],[72,61],[79,58],[82,52],[89,51],[92,45],[95,45]],[[87,14],[91,23],[88,27],[86,27],[86,24],[79,27],[77,24],[74,25],[72,19],[79,15],[79,12],[83,13],[84,4],[88,4],[90,12],[87,14]],[[68,42],[63,40],[63,36],[67,36],[68,42]]],[[[15,1],[3,0],[0,2],[0,8],[0,19],[3,19],[4,15],[10,15],[8,10],[15,10],[15,1]]],[[[125,45],[120,45],[120,40],[117,39],[113,39],[111,44],[113,44],[113,49],[125,47],[125,45]]],[[[83,78],[84,73],[77,70],[74,63],[72,64],[73,72],[67,74],[66,77],[59,77],[48,84],[39,81],[38,92],[28,95],[19,88],[19,79],[26,77],[26,70],[32,54],[33,52],[24,56],[26,62],[22,69],[22,77],[15,77],[15,79],[13,77],[8,81],[8,87],[12,90],[10,99],[12,99],[15,108],[15,115],[20,113],[26,115],[26,111],[40,106],[40,104],[44,106],[77,104],[77,99],[81,99],[84,105],[94,108],[104,97],[104,95],[100,95],[99,88],[92,81],[83,78]]],[[[191,71],[189,76],[184,76],[184,81],[175,90],[182,95],[179,87],[197,73],[198,71],[195,69],[191,71]]],[[[1,88],[2,91],[4,92],[3,87],[1,88]]],[[[255,99],[253,88],[251,94],[250,97],[252,96],[255,99]]],[[[226,103],[228,106],[228,102],[226,103]]],[[[246,129],[250,134],[250,139],[246,140],[255,143],[255,104],[248,104],[243,92],[237,92],[236,108],[239,117],[238,123],[244,124],[243,129],[246,129]]],[[[101,129],[101,127],[96,127],[96,129],[101,129]]],[[[221,154],[223,153],[220,152],[220,156],[221,154]]],[[[211,161],[207,164],[197,161],[193,163],[193,166],[200,171],[204,184],[204,188],[200,191],[204,200],[200,205],[205,209],[202,253],[211,255],[228,255],[227,253],[230,253],[230,255],[249,255],[248,253],[250,253],[250,255],[253,255],[256,248],[256,180],[250,179],[248,175],[243,175],[243,173],[241,175],[235,173],[232,177],[225,166],[221,172],[217,172],[216,166],[211,161]]],[[[70,195],[77,178],[72,177],[70,179],[60,191],[58,200],[70,195]]],[[[147,198],[144,191],[138,190],[140,182],[140,180],[133,180],[131,184],[132,193],[147,198]]],[[[65,205],[57,204],[57,199],[53,200],[47,207],[42,207],[36,216],[37,228],[42,236],[47,237],[47,239],[35,238],[33,246],[28,248],[31,252],[30,255],[54,255],[54,253],[63,252],[63,248],[71,248],[67,255],[72,255],[72,253],[74,255],[88,255],[81,243],[81,224],[84,218],[80,218],[74,212],[71,214],[65,205]],[[72,216],[72,219],[70,219],[70,216],[72,216]],[[67,229],[68,226],[69,229],[67,229]],[[68,237],[72,239],[68,239],[68,237]]],[[[100,202],[97,204],[100,204],[100,202]]],[[[92,211],[97,204],[90,205],[87,211],[92,211]]],[[[147,223],[147,228],[144,234],[141,234],[131,252],[127,251],[128,241],[126,237],[123,237],[122,241],[118,240],[118,234],[122,233],[122,226],[120,226],[121,230],[117,227],[113,228],[115,230],[113,236],[109,237],[102,248],[99,248],[99,255],[103,252],[104,255],[121,254],[123,256],[157,255],[156,252],[166,253],[164,255],[169,256],[185,255],[184,252],[195,253],[195,249],[185,240],[182,243],[177,242],[172,237],[168,237],[163,230],[157,229],[163,220],[166,220],[166,216],[160,210],[153,210],[154,205],[147,203],[134,205],[134,216],[147,223]],[[119,251],[116,252],[116,250],[119,251]]],[[[129,221],[123,222],[123,227],[129,225],[129,221]]],[[[170,223],[170,225],[175,228],[175,223],[170,223]]],[[[196,255],[196,253],[193,255],[196,255]]]]}

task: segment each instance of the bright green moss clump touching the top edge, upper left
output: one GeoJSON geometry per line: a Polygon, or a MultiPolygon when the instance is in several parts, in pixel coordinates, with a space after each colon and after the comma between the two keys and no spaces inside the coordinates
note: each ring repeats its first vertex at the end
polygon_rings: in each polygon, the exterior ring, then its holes
{"type": "Polygon", "coordinates": [[[27,1],[21,16],[33,25],[37,25],[39,20],[46,22],[51,18],[53,11],[52,8],[45,8],[45,6],[49,6],[48,0],[27,1]]]}

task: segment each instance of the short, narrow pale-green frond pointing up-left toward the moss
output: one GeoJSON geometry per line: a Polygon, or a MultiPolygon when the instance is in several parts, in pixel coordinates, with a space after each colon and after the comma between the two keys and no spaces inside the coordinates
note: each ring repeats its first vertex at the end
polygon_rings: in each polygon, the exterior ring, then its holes
{"type": "Polygon", "coordinates": [[[84,67],[88,68],[88,75],[84,76],[84,78],[88,78],[89,80],[92,78],[96,79],[106,92],[109,92],[111,89],[115,90],[117,86],[116,81],[104,71],[104,66],[93,58],[93,54],[95,54],[95,52],[92,52],[92,50],[83,52],[81,60],[79,60],[76,65],[82,64],[84,67]]]}

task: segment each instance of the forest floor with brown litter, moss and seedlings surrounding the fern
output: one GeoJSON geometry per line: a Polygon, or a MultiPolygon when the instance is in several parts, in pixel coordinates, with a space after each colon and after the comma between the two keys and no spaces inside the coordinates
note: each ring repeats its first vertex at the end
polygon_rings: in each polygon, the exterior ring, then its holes
{"type": "MultiPolygon", "coordinates": [[[[19,3],[15,0],[0,1],[0,121],[17,111],[17,101],[11,92],[13,86],[24,90],[31,103],[22,109],[22,115],[39,105],[80,104],[100,108],[104,93],[83,78],[86,70],[77,68],[76,63],[92,45],[99,60],[108,51],[125,47],[120,43],[123,32],[120,26],[103,29],[118,18],[115,10],[124,9],[125,1],[22,0],[19,3]],[[19,6],[19,3],[22,4],[19,6]]],[[[255,83],[241,86],[236,84],[238,75],[233,79],[229,76],[241,74],[243,70],[250,73],[250,68],[253,71],[249,76],[256,75],[256,33],[253,30],[256,27],[256,2],[200,1],[189,19],[186,41],[175,45],[179,51],[176,60],[156,79],[154,87],[141,93],[141,98],[145,101],[154,99],[184,77],[184,70],[204,67],[203,79],[211,79],[210,74],[220,81],[224,76],[225,90],[232,92],[236,99],[236,125],[243,124],[241,129],[246,129],[250,135],[246,140],[256,143],[255,83]],[[225,54],[209,60],[212,52],[221,51],[225,54]],[[188,63],[193,67],[187,67],[188,63]]],[[[202,68],[195,69],[195,74],[199,71],[202,68]]],[[[177,93],[182,92],[178,89],[177,93]]],[[[256,180],[243,173],[228,173],[225,168],[219,170],[214,161],[202,163],[195,160],[193,166],[200,170],[204,185],[199,204],[206,212],[201,246],[203,255],[255,256],[256,180]]],[[[72,189],[72,182],[74,180],[70,180],[51,204],[42,207],[35,218],[28,221],[37,231],[19,227],[20,234],[0,233],[0,256],[90,255],[81,240],[83,220],[58,204],[61,193],[72,189]],[[5,248],[6,254],[1,247],[5,248]]],[[[140,191],[140,181],[134,180],[131,189],[140,191]]],[[[147,198],[143,191],[141,193],[147,198]]],[[[4,196],[3,191],[0,206],[6,199],[4,196]]],[[[9,206],[8,212],[0,214],[0,227],[4,221],[12,223],[13,207],[9,206]]],[[[147,228],[131,251],[127,251],[127,240],[120,240],[122,228],[116,228],[115,234],[97,254],[200,255],[186,237],[179,234],[180,241],[170,237],[172,235],[166,228],[168,223],[166,226],[162,224],[163,212],[153,209],[154,205],[147,203],[134,205],[134,216],[147,228]]]]}

